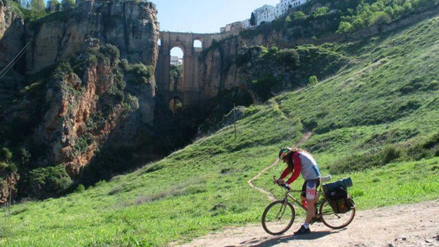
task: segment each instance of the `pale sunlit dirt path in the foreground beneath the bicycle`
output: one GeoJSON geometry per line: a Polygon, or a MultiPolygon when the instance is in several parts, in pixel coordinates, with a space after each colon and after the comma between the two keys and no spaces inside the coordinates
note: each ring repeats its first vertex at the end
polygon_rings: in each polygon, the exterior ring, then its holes
{"type": "Polygon", "coordinates": [[[270,236],[260,224],[229,228],[181,247],[439,247],[439,201],[357,212],[346,229],[311,226],[310,235],[270,236]]]}

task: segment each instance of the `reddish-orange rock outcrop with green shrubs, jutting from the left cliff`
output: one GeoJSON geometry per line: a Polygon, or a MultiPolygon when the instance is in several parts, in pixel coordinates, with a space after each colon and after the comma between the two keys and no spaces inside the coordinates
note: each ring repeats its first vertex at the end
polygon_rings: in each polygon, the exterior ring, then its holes
{"type": "MultiPolygon", "coordinates": [[[[84,60],[106,47],[93,44],[84,60]]],[[[33,135],[37,145],[49,147],[38,163],[64,164],[76,178],[110,136],[123,145],[154,119],[156,86],[153,77],[143,84],[127,80],[118,57],[101,55],[84,65],[82,75],[59,66],[47,86],[49,105],[33,135]],[[127,82],[128,81],[128,82],[127,82]]]]}

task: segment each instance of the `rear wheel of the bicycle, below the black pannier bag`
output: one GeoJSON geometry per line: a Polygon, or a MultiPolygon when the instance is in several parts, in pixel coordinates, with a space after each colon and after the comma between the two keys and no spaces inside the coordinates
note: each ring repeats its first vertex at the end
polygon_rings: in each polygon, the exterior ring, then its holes
{"type": "Polygon", "coordinates": [[[354,220],[355,208],[349,210],[344,214],[337,214],[329,205],[326,199],[323,199],[320,205],[319,214],[323,224],[332,229],[341,229],[347,227],[354,220]]]}

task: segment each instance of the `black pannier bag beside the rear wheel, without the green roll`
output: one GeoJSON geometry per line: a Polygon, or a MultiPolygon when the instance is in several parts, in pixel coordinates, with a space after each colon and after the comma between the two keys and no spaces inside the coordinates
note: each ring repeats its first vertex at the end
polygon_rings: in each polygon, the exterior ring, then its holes
{"type": "Polygon", "coordinates": [[[342,186],[325,192],[325,198],[337,214],[344,214],[355,207],[352,197],[342,186]]]}

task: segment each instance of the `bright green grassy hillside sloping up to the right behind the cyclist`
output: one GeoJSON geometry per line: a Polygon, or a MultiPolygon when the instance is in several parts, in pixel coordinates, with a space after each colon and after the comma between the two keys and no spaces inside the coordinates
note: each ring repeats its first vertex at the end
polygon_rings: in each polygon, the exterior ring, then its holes
{"type": "MultiPolygon", "coordinates": [[[[163,246],[257,223],[269,201],[247,181],[281,146],[299,141],[304,128],[314,135],[303,147],[322,173],[352,177],[360,210],[438,199],[438,36],[435,17],[370,40],[325,44],[350,65],[247,108],[237,139],[228,126],[85,191],[13,206],[10,218],[1,209],[0,246],[163,246]]],[[[271,177],[282,166],[255,184],[279,194],[271,177]]]]}

